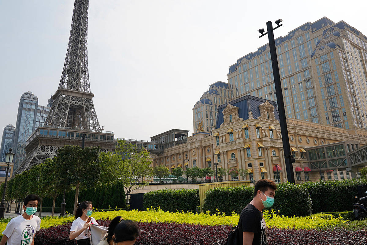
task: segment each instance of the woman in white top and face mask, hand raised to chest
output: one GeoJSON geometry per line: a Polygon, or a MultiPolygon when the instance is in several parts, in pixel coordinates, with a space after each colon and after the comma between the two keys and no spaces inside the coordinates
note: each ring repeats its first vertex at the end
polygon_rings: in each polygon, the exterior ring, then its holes
{"type": "Polygon", "coordinates": [[[70,228],[69,239],[76,239],[78,245],[90,245],[89,237],[91,232],[89,226],[91,224],[98,226],[97,221],[93,217],[87,223],[88,218],[92,215],[92,210],[92,202],[84,201],[77,205],[74,221],[70,228]]]}

